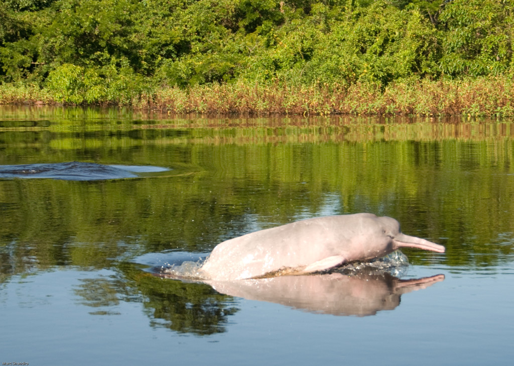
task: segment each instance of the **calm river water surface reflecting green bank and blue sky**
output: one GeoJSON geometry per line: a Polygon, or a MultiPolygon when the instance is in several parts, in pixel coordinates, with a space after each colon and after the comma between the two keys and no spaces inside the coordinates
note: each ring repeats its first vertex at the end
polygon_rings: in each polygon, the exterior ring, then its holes
{"type": "Polygon", "coordinates": [[[511,120],[1,107],[0,165],[114,170],[0,177],[0,361],[511,364],[513,160],[511,120]],[[282,300],[155,276],[256,229],[358,212],[447,252],[266,284],[282,300]]]}

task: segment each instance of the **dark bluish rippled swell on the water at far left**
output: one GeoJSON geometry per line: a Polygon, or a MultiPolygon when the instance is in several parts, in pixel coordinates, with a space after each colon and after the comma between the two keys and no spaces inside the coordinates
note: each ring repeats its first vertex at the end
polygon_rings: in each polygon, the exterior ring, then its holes
{"type": "Polygon", "coordinates": [[[137,173],[169,170],[157,166],[103,165],[67,162],[0,166],[2,178],[46,178],[74,181],[137,178],[137,173]]]}

